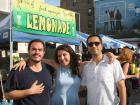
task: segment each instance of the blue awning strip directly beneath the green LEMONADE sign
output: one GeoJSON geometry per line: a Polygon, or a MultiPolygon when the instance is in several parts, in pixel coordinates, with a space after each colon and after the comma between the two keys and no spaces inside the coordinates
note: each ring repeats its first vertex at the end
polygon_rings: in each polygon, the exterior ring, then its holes
{"type": "Polygon", "coordinates": [[[80,44],[79,38],[53,37],[48,35],[37,35],[37,34],[30,34],[30,33],[24,33],[19,31],[12,32],[12,41],[29,42],[33,39],[41,39],[45,42],[58,42],[62,44],[72,44],[72,45],[80,44]]]}

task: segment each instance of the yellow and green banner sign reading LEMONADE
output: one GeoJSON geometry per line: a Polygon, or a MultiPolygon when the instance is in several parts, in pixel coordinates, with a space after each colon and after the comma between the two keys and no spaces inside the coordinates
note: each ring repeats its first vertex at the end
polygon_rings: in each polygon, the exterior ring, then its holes
{"type": "Polygon", "coordinates": [[[13,0],[13,29],[32,34],[75,38],[75,13],[39,0],[13,0]]]}

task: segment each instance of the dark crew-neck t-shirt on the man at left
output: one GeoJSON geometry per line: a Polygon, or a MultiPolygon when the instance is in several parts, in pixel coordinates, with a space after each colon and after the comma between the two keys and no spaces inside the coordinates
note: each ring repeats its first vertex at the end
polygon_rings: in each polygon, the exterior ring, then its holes
{"type": "Polygon", "coordinates": [[[45,85],[44,91],[41,94],[14,100],[14,105],[49,105],[52,88],[50,69],[49,65],[42,64],[40,72],[34,72],[29,67],[21,71],[11,70],[5,84],[6,92],[29,89],[36,80],[38,80],[38,84],[43,83],[45,85]]]}

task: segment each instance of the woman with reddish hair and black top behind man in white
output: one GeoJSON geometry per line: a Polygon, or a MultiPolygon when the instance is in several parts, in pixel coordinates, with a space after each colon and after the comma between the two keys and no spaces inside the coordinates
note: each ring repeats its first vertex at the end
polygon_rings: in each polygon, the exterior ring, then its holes
{"type": "Polygon", "coordinates": [[[123,48],[119,54],[118,60],[121,63],[123,68],[123,72],[125,75],[125,85],[127,91],[127,105],[132,105],[132,95],[133,95],[133,87],[132,87],[132,78],[139,78],[139,74],[132,74],[130,70],[130,64],[133,59],[133,51],[130,48],[123,48]]]}

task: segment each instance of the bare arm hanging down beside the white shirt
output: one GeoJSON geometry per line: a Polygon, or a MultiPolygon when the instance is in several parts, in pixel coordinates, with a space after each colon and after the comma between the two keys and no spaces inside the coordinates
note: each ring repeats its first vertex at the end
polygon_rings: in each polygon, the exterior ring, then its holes
{"type": "Polygon", "coordinates": [[[118,90],[120,96],[120,105],[126,105],[126,87],[125,87],[125,80],[122,79],[118,82],[118,90]]]}

